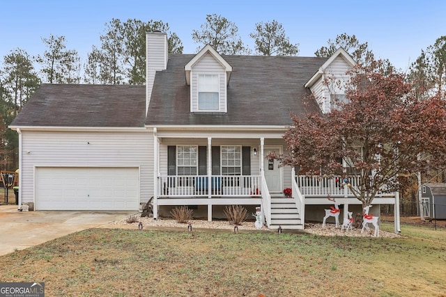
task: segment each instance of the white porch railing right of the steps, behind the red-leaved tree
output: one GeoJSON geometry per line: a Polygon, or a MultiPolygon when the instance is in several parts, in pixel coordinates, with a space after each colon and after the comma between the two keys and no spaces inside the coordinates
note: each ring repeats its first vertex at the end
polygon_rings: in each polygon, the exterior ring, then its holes
{"type": "MultiPolygon", "coordinates": [[[[353,188],[361,186],[360,176],[346,177],[348,184],[353,188]]],[[[295,177],[300,193],[306,197],[326,196],[330,194],[333,197],[353,197],[350,189],[345,185],[344,177],[340,176],[321,176],[321,175],[297,175],[295,177]]],[[[388,193],[386,186],[381,187],[378,195],[393,196],[394,193],[388,193]]]]}

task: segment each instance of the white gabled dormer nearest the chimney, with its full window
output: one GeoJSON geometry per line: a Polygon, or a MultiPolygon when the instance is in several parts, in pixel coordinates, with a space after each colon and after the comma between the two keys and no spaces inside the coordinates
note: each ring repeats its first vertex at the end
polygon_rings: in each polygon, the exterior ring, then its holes
{"type": "Polygon", "coordinates": [[[227,86],[232,66],[213,47],[203,47],[184,70],[190,86],[191,112],[227,111],[227,86]]]}

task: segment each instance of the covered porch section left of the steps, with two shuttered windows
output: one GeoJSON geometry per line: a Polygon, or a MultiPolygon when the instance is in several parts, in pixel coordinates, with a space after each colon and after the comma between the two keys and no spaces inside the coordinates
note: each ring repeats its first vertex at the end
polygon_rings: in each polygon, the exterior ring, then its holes
{"type": "Polygon", "coordinates": [[[283,152],[282,133],[276,128],[154,129],[154,218],[163,206],[205,205],[208,220],[213,206],[252,205],[265,211],[270,191],[277,195],[291,186],[291,168],[266,159],[269,152],[283,152]]]}

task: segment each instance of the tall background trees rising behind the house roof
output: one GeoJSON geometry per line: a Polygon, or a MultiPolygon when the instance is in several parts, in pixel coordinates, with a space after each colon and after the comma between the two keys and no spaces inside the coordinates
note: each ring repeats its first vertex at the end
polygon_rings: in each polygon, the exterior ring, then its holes
{"type": "MultiPolygon", "coordinates": [[[[146,32],[162,31],[168,36],[168,51],[183,53],[183,42],[162,21],[112,19],[105,24],[99,45],[93,45],[82,63],[75,49],[67,48],[64,36],[49,35],[42,38],[45,51],[30,56],[25,49],[12,49],[3,57],[0,65],[0,168],[14,169],[18,166],[17,134],[7,129],[31,97],[40,83],[91,83],[91,84],[136,84],[146,79],[146,32]]],[[[249,34],[254,40],[254,50],[249,49],[238,34],[238,27],[221,15],[206,16],[200,29],[192,30],[192,40],[198,45],[213,46],[220,54],[255,54],[264,56],[297,56],[299,44],[286,35],[284,26],[272,20],[254,24],[249,34]]],[[[376,60],[367,42],[361,43],[355,35],[342,33],[329,39],[327,45],[315,51],[315,56],[329,57],[337,48],[343,47],[361,65],[370,65],[376,60]]],[[[385,69],[393,69],[390,61],[383,60],[385,69]]],[[[413,81],[419,96],[445,92],[446,88],[446,36],[438,38],[433,45],[422,50],[410,66],[406,79],[413,81]]]]}

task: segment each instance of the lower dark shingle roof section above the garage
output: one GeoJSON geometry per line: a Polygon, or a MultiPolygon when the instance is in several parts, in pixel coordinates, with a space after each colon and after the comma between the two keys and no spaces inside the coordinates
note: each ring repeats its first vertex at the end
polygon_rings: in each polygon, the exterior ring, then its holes
{"type": "Polygon", "coordinates": [[[144,127],[145,86],[42,84],[11,126],[144,127]]]}

